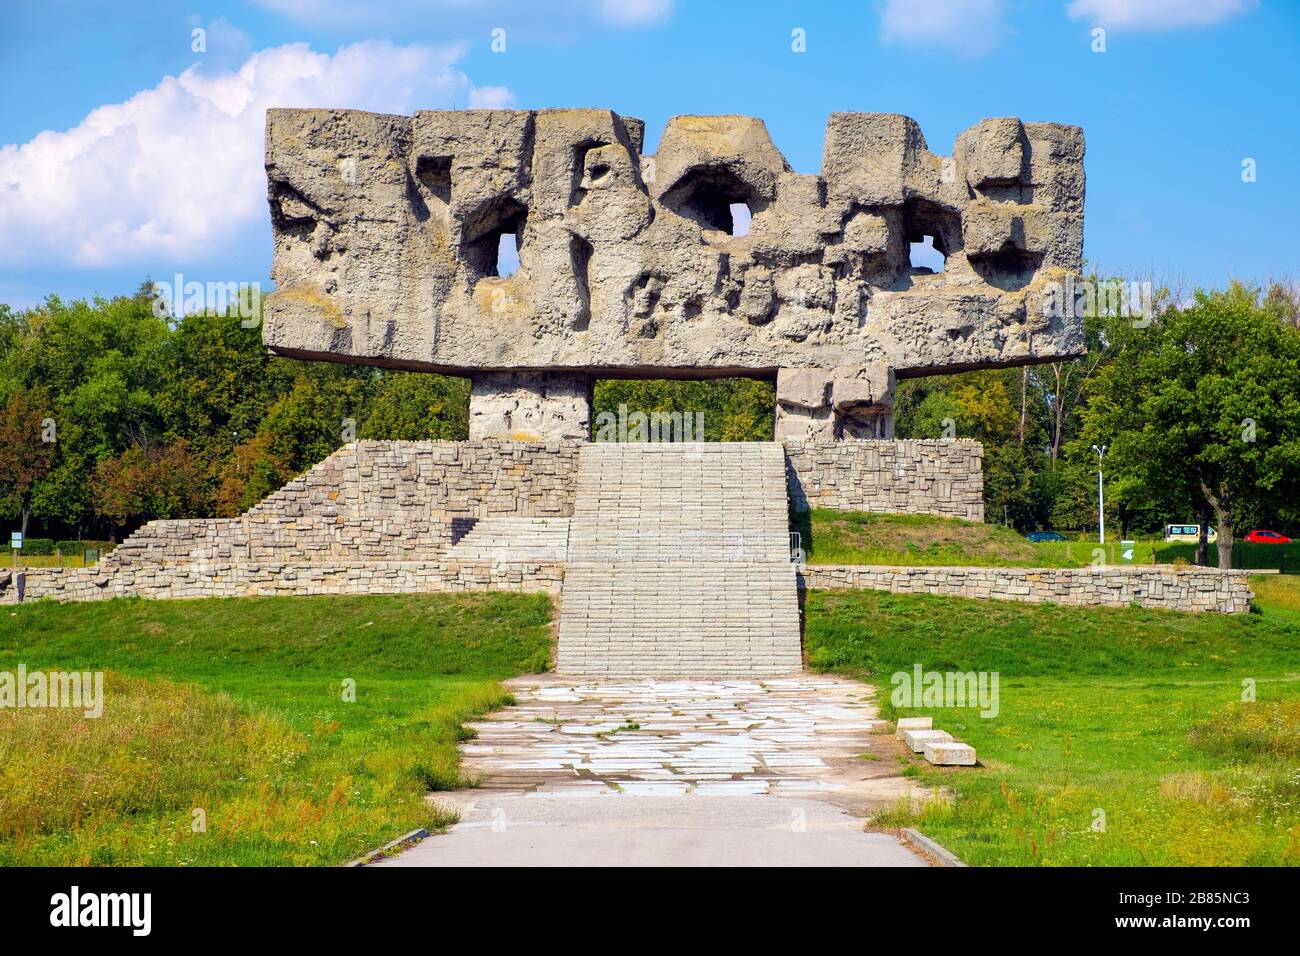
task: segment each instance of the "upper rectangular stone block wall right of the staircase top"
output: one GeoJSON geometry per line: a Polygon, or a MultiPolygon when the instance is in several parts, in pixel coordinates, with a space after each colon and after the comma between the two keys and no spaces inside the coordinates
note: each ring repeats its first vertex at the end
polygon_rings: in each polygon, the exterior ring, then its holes
{"type": "Polygon", "coordinates": [[[785,441],[796,510],[810,507],[984,520],[978,441],[785,441]]]}

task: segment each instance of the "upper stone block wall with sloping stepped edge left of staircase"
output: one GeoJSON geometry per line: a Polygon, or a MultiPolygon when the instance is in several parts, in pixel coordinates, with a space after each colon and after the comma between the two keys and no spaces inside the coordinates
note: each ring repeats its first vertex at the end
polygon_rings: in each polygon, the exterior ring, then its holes
{"type": "Polygon", "coordinates": [[[239,518],[150,522],[104,564],[429,561],[447,550],[460,522],[572,515],[578,447],[352,442],[239,518]]]}

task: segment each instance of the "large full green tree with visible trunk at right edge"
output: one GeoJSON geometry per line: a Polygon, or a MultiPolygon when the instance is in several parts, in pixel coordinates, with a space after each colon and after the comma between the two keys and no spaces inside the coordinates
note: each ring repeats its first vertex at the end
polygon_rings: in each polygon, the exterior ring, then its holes
{"type": "Polygon", "coordinates": [[[1109,445],[1128,488],[1209,511],[1231,567],[1244,520],[1270,496],[1300,494],[1300,330],[1234,282],[1112,333],[1123,358],[1098,372],[1078,444],[1109,445]]]}

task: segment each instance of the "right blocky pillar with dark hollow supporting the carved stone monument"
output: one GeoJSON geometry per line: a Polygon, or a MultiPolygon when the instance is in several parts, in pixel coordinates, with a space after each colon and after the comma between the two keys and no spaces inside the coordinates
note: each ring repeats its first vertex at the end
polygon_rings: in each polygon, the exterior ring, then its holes
{"type": "Polygon", "coordinates": [[[783,368],[776,375],[776,441],[893,438],[893,369],[783,368]]]}

